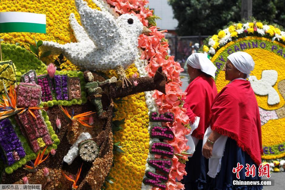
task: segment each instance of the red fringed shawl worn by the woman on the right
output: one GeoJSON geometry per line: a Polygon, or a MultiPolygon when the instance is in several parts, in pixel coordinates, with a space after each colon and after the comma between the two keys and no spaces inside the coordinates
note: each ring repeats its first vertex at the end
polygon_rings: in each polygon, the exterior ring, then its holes
{"type": "Polygon", "coordinates": [[[259,165],[263,154],[260,115],[250,82],[236,79],[216,96],[211,109],[211,129],[234,139],[259,165]]]}

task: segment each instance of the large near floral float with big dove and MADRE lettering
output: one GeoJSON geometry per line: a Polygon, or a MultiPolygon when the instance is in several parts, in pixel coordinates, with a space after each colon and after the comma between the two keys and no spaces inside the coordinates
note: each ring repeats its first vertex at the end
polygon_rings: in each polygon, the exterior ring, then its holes
{"type": "Polygon", "coordinates": [[[1,183],[183,189],[183,69],[147,3],[0,2],[46,14],[46,34],[4,34],[1,183]]]}

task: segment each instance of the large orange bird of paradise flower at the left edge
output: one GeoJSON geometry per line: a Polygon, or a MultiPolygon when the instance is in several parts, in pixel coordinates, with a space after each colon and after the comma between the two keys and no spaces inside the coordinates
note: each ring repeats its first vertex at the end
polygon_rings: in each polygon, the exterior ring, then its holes
{"type": "MultiPolygon", "coordinates": [[[[2,81],[3,82],[3,81],[2,81]]],[[[0,102],[0,120],[7,118],[11,115],[21,114],[22,112],[28,110],[30,114],[35,117],[35,114],[32,112],[32,109],[42,109],[40,107],[29,107],[29,108],[17,108],[17,95],[13,86],[10,85],[9,93],[3,82],[3,87],[6,96],[2,95],[2,102],[0,102]]]]}

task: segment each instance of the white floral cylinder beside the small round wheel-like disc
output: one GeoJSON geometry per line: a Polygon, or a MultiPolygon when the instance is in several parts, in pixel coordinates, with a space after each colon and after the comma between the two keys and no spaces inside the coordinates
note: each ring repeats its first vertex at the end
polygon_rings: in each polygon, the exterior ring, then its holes
{"type": "Polygon", "coordinates": [[[81,133],[75,143],[70,147],[67,154],[64,156],[63,161],[66,162],[68,165],[70,165],[73,160],[78,156],[78,145],[81,141],[87,140],[89,138],[92,138],[92,136],[89,133],[81,133]]]}

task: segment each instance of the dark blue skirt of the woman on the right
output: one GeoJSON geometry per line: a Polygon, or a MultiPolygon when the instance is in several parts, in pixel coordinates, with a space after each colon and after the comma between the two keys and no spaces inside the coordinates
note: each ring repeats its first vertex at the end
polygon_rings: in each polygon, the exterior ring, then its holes
{"type": "MultiPolygon", "coordinates": [[[[203,157],[203,155],[202,155],[203,157]]],[[[209,161],[205,159],[208,163],[209,161]]],[[[262,189],[262,185],[260,186],[250,186],[250,185],[243,185],[243,186],[236,186],[233,185],[233,180],[260,180],[261,177],[258,176],[258,165],[253,162],[250,156],[244,152],[239,146],[236,145],[236,141],[228,138],[226,141],[225,151],[222,158],[221,163],[221,170],[216,175],[216,178],[211,178],[210,176],[206,175],[208,172],[208,167],[205,167],[206,164],[201,164],[201,171],[200,178],[197,180],[198,189],[210,189],[210,190],[235,190],[235,189],[245,189],[245,190],[259,190],[262,189]],[[240,179],[236,178],[236,173],[233,173],[233,168],[237,167],[237,163],[243,165],[243,169],[239,172],[240,179]],[[249,177],[245,176],[246,172],[246,164],[255,165],[255,177],[251,175],[249,177]]],[[[194,171],[193,171],[194,172],[194,171]]]]}

